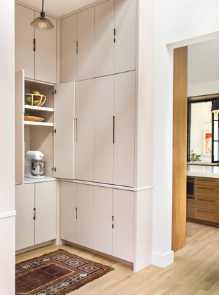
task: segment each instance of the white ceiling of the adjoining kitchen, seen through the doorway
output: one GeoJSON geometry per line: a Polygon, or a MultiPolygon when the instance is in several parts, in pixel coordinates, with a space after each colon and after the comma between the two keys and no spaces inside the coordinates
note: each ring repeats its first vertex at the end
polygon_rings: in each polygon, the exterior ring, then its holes
{"type": "Polygon", "coordinates": [[[219,80],[219,39],[189,46],[188,83],[219,80]]]}

